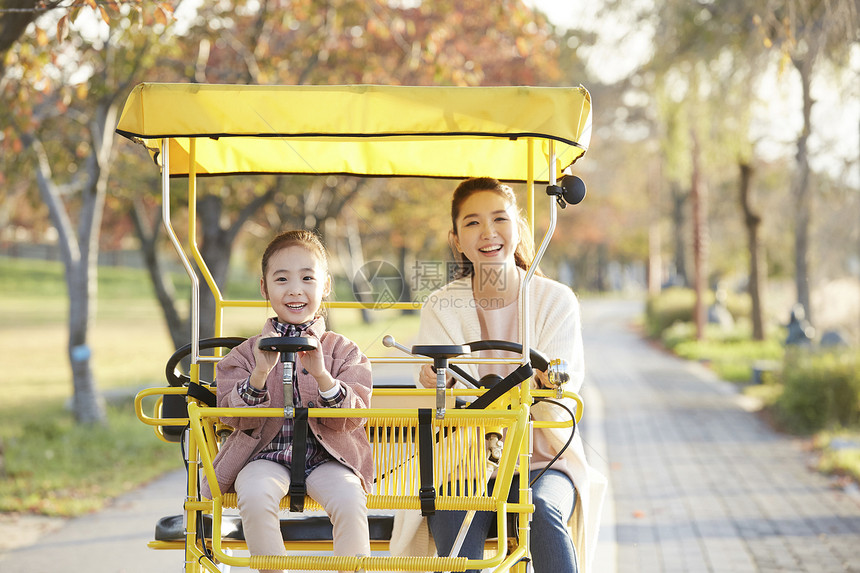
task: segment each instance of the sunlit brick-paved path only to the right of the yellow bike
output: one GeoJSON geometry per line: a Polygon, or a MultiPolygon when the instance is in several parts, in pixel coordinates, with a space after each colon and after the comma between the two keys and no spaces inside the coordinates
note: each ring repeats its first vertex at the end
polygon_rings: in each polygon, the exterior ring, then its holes
{"type": "Polygon", "coordinates": [[[748,412],[733,386],[630,331],[641,305],[583,307],[618,571],[860,571],[860,500],[810,471],[800,440],[748,412]]]}

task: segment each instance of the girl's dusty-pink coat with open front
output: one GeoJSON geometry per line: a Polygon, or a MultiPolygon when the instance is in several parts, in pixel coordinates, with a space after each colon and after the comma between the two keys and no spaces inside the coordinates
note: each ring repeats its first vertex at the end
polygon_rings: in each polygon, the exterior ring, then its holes
{"type": "MultiPolygon", "coordinates": [[[[325,321],[315,322],[308,336],[319,339],[326,369],[332,378],[340,381],[346,392],[341,408],[367,408],[373,381],[370,361],[358,346],[340,334],[325,330],[325,321]]],[[[262,335],[249,338],[221,359],[216,370],[218,406],[229,408],[283,408],[283,365],[278,363],[266,379],[269,396],[259,406],[248,406],[239,396],[237,387],[244,382],[254,369],[254,345],[262,335]]],[[[302,406],[322,407],[319,387],[310,374],[302,371],[297,361],[298,388],[302,406]]],[[[232,426],[230,434],[221,451],[215,456],[215,475],[218,486],[226,493],[232,491],[239,471],[254,454],[268,445],[283,426],[283,418],[244,418],[225,417],[221,421],[232,426]]],[[[364,418],[308,418],[308,429],[314,433],[320,444],[340,463],[351,469],[359,478],[365,491],[370,491],[373,483],[373,460],[370,443],[364,429],[364,418]]],[[[211,490],[205,477],[202,493],[211,497],[211,490]]]]}

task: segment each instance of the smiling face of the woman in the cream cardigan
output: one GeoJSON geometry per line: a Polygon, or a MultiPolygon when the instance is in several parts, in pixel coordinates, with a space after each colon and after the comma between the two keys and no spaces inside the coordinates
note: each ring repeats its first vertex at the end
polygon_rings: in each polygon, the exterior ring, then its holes
{"type": "Polygon", "coordinates": [[[454,246],[472,264],[513,263],[519,244],[515,206],[495,191],[472,193],[460,207],[454,246]]]}

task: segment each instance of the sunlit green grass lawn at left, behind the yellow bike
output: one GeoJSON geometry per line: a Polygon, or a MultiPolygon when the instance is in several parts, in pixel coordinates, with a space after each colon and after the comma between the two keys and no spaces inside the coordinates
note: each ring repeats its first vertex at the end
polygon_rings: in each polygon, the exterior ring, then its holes
{"type": "MultiPolygon", "coordinates": [[[[225,335],[259,332],[268,312],[225,320],[225,335]],[[229,328],[229,330],[226,330],[229,328]]],[[[60,263],[0,257],[0,512],[74,516],[183,466],[178,444],[156,438],[134,413],[143,387],[165,386],[173,345],[142,270],[102,268],[89,333],[93,371],[109,398],[108,424],[77,425],[68,409],[68,300],[60,263]]],[[[391,354],[386,334],[409,344],[417,315],[380,311],[366,325],[356,310],[331,311],[338,332],[369,356],[391,354]]],[[[150,405],[151,407],[151,405],[150,405]]]]}

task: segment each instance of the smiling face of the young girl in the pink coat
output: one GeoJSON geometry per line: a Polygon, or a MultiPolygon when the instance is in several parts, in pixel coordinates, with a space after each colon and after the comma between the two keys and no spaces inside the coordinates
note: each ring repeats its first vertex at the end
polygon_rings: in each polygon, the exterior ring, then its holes
{"type": "Polygon", "coordinates": [[[331,277],[308,249],[292,245],[272,253],[260,292],[281,322],[312,320],[331,292],[331,277]]]}

